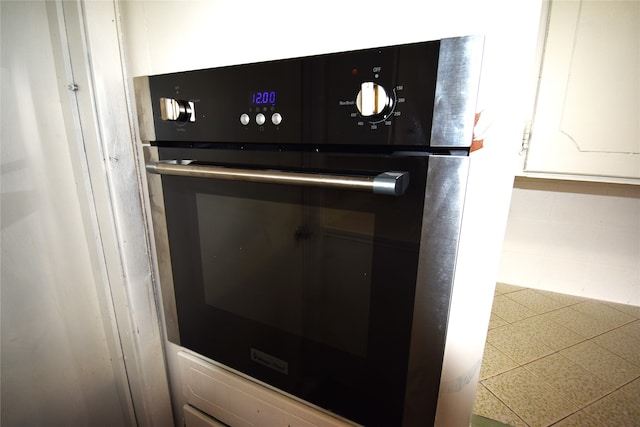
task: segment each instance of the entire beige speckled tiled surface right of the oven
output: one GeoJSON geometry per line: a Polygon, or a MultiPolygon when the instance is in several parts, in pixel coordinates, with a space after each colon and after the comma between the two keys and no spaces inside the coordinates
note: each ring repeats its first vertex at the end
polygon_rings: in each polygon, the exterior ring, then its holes
{"type": "Polygon", "coordinates": [[[640,307],[498,284],[474,413],[511,426],[640,426],[640,307]]]}

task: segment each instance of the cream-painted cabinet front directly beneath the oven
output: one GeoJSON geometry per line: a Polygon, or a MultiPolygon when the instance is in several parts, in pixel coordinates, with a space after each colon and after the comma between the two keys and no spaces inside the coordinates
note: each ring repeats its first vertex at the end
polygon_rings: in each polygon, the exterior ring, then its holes
{"type": "Polygon", "coordinates": [[[178,358],[183,393],[193,407],[185,405],[184,408],[187,427],[223,425],[216,420],[233,427],[356,425],[186,352],[179,352],[178,358]]]}

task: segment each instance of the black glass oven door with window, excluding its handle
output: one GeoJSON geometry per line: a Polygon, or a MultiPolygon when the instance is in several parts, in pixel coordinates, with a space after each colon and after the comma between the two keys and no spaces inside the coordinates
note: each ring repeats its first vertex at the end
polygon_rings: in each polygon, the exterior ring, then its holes
{"type": "Polygon", "coordinates": [[[409,173],[400,196],[162,176],[180,345],[354,421],[400,424],[428,157],[185,152],[159,149],[198,164],[409,173]]]}

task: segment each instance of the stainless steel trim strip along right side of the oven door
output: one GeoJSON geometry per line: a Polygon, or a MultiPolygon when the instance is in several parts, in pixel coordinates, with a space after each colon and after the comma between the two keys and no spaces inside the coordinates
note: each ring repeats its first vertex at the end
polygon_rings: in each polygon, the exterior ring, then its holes
{"type": "Polygon", "coordinates": [[[438,398],[442,355],[435,354],[433,348],[441,348],[446,342],[469,165],[469,157],[429,158],[404,426],[427,425],[435,418],[432,403],[438,398]]]}

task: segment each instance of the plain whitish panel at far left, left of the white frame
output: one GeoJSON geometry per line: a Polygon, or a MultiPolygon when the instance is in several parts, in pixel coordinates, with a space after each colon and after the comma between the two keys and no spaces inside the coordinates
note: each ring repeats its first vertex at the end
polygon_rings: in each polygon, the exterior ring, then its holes
{"type": "Polygon", "coordinates": [[[2,1],[0,14],[1,424],[131,425],[65,126],[55,13],[2,1]]]}

